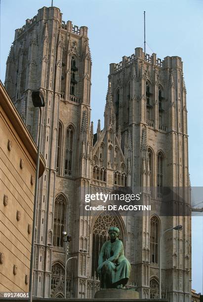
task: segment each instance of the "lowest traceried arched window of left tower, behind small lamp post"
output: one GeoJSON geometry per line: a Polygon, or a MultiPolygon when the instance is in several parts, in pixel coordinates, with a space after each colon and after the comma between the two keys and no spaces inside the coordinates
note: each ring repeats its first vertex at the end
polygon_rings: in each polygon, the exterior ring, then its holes
{"type": "MultiPolygon", "coordinates": [[[[65,270],[59,263],[51,267],[51,298],[64,298],[65,270]]],[[[66,278],[66,298],[71,298],[71,278],[66,278]]]]}

